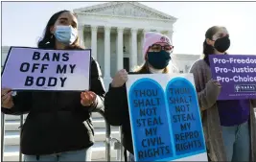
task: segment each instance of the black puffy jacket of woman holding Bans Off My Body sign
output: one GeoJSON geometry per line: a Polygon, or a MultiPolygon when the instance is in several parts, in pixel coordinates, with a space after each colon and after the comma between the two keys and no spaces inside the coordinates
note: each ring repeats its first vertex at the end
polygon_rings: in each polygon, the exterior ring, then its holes
{"type": "Polygon", "coordinates": [[[29,112],[21,132],[21,152],[52,154],[89,148],[94,143],[91,112],[104,108],[105,87],[100,66],[91,59],[90,90],[97,94],[93,106],[81,105],[81,92],[20,91],[14,107],[2,107],[5,114],[29,112]]]}

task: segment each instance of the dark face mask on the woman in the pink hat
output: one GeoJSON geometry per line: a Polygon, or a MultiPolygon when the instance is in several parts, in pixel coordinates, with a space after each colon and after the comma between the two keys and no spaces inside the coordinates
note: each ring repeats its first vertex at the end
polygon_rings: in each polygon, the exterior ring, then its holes
{"type": "Polygon", "coordinates": [[[148,61],[155,69],[164,69],[171,60],[170,53],[162,50],[160,52],[148,52],[148,61]]]}

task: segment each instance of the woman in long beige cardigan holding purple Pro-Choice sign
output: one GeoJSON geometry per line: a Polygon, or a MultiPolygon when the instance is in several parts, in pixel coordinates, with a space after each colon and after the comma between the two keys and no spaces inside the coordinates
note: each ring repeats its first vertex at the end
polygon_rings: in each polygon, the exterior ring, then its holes
{"type": "Polygon", "coordinates": [[[202,124],[209,160],[255,161],[256,125],[253,106],[256,101],[217,101],[221,83],[211,78],[209,55],[225,55],[230,39],[224,27],[214,26],[205,34],[204,58],[191,68],[198,91],[202,124]]]}

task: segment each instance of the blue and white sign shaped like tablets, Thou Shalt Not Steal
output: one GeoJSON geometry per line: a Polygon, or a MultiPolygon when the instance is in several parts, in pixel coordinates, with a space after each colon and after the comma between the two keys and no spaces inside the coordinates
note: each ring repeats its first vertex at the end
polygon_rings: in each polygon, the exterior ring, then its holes
{"type": "Polygon", "coordinates": [[[129,75],[135,161],[208,161],[192,74],[129,75]]]}

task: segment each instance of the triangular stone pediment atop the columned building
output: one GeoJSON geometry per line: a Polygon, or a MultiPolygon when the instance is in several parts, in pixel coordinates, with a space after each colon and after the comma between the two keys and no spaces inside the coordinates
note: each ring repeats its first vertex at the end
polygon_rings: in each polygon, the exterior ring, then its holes
{"type": "Polygon", "coordinates": [[[123,17],[141,17],[153,19],[176,20],[174,16],[158,12],[138,2],[109,2],[87,8],[74,10],[76,13],[116,15],[123,17]]]}

